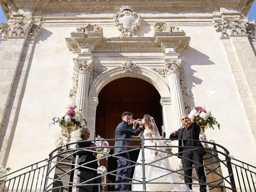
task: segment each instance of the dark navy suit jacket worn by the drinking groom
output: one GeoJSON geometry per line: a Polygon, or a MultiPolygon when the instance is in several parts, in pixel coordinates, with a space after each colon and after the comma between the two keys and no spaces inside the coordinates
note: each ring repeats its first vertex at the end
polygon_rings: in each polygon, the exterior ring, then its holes
{"type": "MultiPolygon", "coordinates": [[[[138,129],[134,130],[130,127],[130,125],[126,121],[120,122],[116,127],[115,137],[116,139],[130,139],[131,135],[138,136],[140,132],[142,132],[143,128],[138,127],[138,129]]],[[[124,140],[116,140],[115,146],[128,146],[130,141],[124,140]]],[[[128,148],[115,148],[115,153],[126,151],[128,148]]]]}

